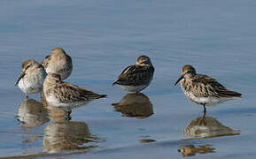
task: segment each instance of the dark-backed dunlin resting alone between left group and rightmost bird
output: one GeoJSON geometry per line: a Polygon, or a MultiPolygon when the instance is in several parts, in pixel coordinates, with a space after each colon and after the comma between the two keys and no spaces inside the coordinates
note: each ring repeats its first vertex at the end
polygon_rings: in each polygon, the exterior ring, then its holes
{"type": "Polygon", "coordinates": [[[112,85],[118,84],[128,92],[138,93],[150,85],[153,73],[154,67],[151,64],[151,59],[141,56],[137,58],[136,64],[129,65],[121,72],[112,85]]]}

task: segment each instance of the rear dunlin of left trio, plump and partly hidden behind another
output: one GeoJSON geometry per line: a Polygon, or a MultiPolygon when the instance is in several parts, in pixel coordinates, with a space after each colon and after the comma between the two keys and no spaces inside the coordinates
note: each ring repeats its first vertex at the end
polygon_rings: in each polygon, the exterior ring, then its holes
{"type": "Polygon", "coordinates": [[[62,80],[68,78],[73,70],[71,57],[58,47],[52,49],[51,55],[43,59],[42,65],[47,73],[57,73],[62,80]]]}

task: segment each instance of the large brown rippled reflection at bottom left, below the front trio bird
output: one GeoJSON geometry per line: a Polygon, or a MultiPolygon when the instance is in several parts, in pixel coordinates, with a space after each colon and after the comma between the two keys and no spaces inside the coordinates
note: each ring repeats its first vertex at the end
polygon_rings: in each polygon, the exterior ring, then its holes
{"type": "Polygon", "coordinates": [[[89,133],[88,125],[84,122],[56,122],[44,129],[43,150],[48,153],[89,150],[97,148],[97,140],[97,137],[89,133]]]}

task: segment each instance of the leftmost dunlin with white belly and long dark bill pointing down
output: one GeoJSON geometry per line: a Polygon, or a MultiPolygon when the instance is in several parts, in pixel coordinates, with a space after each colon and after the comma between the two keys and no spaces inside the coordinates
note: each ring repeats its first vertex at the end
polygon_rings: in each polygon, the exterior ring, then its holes
{"type": "Polygon", "coordinates": [[[25,60],[21,67],[22,71],[19,73],[15,86],[18,85],[26,95],[39,93],[43,89],[43,80],[46,77],[43,66],[29,59],[25,60]]]}

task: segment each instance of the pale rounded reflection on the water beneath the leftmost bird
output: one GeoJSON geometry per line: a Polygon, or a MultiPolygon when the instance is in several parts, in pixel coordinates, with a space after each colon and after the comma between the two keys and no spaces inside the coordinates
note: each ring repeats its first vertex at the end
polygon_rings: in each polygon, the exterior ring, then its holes
{"type": "Polygon", "coordinates": [[[48,110],[41,102],[27,98],[19,104],[17,119],[23,123],[22,126],[43,125],[50,120],[48,110]]]}

